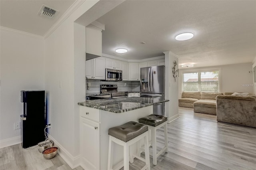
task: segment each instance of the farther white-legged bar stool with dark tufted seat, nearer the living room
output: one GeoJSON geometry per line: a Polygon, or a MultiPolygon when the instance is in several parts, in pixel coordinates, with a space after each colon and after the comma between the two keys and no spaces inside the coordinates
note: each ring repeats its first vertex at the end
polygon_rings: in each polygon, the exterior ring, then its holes
{"type": "Polygon", "coordinates": [[[139,119],[139,123],[148,125],[149,130],[151,130],[151,142],[153,149],[153,165],[157,164],[157,157],[162,154],[162,152],[168,152],[168,140],[167,140],[167,117],[164,115],[148,115],[147,117],[142,117],[139,119]],[[156,153],[156,130],[164,126],[164,148],[156,153]]]}

